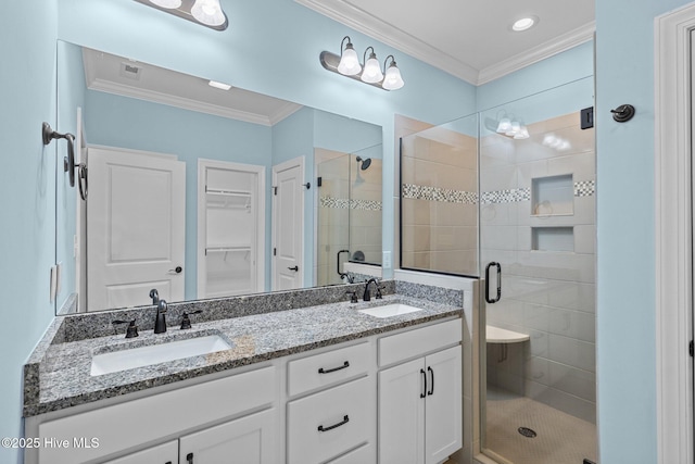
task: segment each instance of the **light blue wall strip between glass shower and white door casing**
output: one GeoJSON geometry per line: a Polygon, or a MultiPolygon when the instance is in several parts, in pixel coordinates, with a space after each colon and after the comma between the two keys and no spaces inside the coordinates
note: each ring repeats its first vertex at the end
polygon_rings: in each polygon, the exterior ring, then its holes
{"type": "MultiPolygon", "coordinates": [[[[654,18],[683,0],[596,1],[602,463],[655,463],[654,18]],[[612,121],[630,103],[635,117],[612,121]]],[[[685,349],[685,347],[683,347],[685,349]]]]}

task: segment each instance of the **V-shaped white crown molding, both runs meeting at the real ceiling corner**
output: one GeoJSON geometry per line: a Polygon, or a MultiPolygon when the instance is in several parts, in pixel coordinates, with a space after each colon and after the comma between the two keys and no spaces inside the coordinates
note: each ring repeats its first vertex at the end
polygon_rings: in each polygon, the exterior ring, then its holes
{"type": "Polygon", "coordinates": [[[525,52],[523,55],[514,57],[478,71],[343,0],[332,1],[330,5],[321,0],[294,1],[476,86],[497,79],[580,43],[593,40],[595,30],[595,23],[591,22],[557,37],[551,42],[535,47],[525,52]]]}

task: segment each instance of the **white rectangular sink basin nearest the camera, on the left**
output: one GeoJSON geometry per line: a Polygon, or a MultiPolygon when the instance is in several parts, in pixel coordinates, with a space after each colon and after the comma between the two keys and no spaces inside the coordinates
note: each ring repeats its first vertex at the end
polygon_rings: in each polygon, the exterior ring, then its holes
{"type": "Polygon", "coordinates": [[[110,374],[184,358],[229,350],[231,346],[218,335],[169,341],[97,354],[91,359],[91,375],[110,374]]]}

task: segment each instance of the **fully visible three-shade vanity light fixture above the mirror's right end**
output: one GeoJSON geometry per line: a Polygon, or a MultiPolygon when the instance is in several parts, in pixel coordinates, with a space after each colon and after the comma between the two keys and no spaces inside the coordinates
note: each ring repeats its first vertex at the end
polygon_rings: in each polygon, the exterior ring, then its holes
{"type": "Polygon", "coordinates": [[[383,70],[386,71],[382,71],[374,47],[367,47],[363,55],[365,62],[363,66],[350,36],[343,37],[340,42],[340,57],[329,51],[323,51],[319,60],[327,71],[352,77],[383,90],[397,90],[404,85],[401,71],[392,54],[384,60],[383,70]],[[348,41],[346,45],[345,41],[348,41]],[[367,58],[367,52],[369,52],[369,58],[367,58]],[[390,64],[389,59],[391,60],[390,64]],[[389,64],[388,67],[387,64],[389,64]]]}

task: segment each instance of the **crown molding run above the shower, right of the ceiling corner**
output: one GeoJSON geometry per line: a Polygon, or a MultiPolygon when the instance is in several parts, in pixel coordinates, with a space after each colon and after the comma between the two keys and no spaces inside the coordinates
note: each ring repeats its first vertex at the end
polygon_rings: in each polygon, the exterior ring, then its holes
{"type": "Polygon", "coordinates": [[[488,66],[480,71],[478,75],[477,85],[490,83],[498,79],[500,77],[511,74],[515,71],[519,71],[526,66],[543,61],[546,58],[551,58],[555,54],[569,50],[578,45],[587,42],[594,38],[594,32],[596,30],[596,23],[591,22],[582,27],[578,27],[574,30],[563,34],[553,41],[545,42],[539,47],[527,50],[523,54],[516,55],[509,60],[501,61],[492,66],[488,66]]]}

